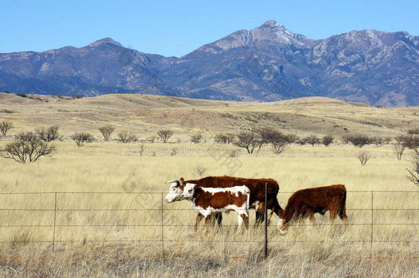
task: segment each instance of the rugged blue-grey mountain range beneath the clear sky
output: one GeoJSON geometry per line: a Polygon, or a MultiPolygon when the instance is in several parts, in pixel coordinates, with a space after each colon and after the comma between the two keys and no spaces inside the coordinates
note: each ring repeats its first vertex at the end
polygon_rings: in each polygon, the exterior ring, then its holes
{"type": "Polygon", "coordinates": [[[0,54],[5,90],[262,102],[324,96],[418,106],[419,37],[361,30],[312,40],[270,20],[180,58],[144,54],[104,38],[80,48],[0,54]]]}

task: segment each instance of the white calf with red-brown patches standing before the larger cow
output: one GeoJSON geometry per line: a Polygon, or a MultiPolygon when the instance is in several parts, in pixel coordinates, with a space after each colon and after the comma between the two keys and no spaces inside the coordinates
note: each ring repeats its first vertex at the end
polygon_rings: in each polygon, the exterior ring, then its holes
{"type": "Polygon", "coordinates": [[[192,208],[205,218],[206,233],[208,224],[214,213],[236,211],[238,215],[238,226],[245,223],[249,228],[249,199],[250,190],[246,185],[213,188],[199,187],[188,183],[183,189],[181,197],[192,202],[192,208]]]}

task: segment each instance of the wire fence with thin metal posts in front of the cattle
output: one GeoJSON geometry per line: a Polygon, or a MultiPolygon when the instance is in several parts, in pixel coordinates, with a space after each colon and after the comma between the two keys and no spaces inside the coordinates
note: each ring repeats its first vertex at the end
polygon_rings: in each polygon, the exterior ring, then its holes
{"type": "MultiPolygon", "coordinates": [[[[369,244],[369,254],[373,257],[374,244],[418,244],[419,207],[386,207],[397,194],[405,195],[396,203],[405,205],[407,198],[418,204],[419,192],[407,191],[348,191],[348,199],[356,199],[353,207],[348,207],[349,227],[365,227],[361,238],[317,240],[304,238],[280,238],[275,236],[276,225],[271,224],[262,229],[255,229],[254,233],[260,235],[256,238],[242,237],[231,238],[182,238],[185,232],[193,231],[195,224],[185,222],[185,218],[194,220],[196,213],[193,209],[179,207],[177,204],[166,204],[164,196],[167,192],[14,192],[0,193],[0,233],[1,244],[47,244],[52,252],[56,251],[56,244],[86,244],[86,243],[109,243],[109,244],[157,244],[161,248],[161,257],[165,256],[166,248],[170,243],[256,243],[264,246],[265,256],[269,247],[278,244],[308,243],[308,242],[337,242],[343,244],[364,243],[369,244]],[[354,195],[360,194],[360,197],[354,195]],[[380,195],[377,199],[377,195],[380,195]],[[116,196],[119,196],[117,198],[116,196]],[[19,200],[20,198],[20,200],[19,200]],[[17,214],[16,214],[17,213],[17,214]],[[19,214],[20,213],[20,214],[19,214]],[[35,213],[36,216],[30,213],[35,213]],[[80,213],[87,215],[80,216],[80,213]],[[100,214],[105,213],[105,214],[100,214]],[[106,213],[110,213],[106,215],[106,213]],[[119,214],[118,214],[119,213],[119,214]],[[132,214],[134,213],[134,214],[132,214]],[[188,214],[189,213],[189,214],[188,214]],[[354,217],[354,213],[366,213],[363,218],[354,217]],[[385,213],[383,216],[382,214],[385,213]],[[394,213],[403,213],[408,217],[395,216],[394,213]],[[185,216],[188,214],[188,216],[185,216]],[[367,217],[368,215],[368,217],[367,217]],[[190,216],[190,217],[189,217],[190,216]],[[119,219],[124,221],[119,222],[119,219]],[[115,219],[118,220],[115,223],[115,219]],[[356,220],[364,220],[356,222],[356,220]],[[396,221],[395,221],[396,220],[396,221]],[[394,226],[412,228],[411,237],[398,238],[386,237],[380,234],[382,227],[394,226]],[[124,229],[128,231],[124,231],[124,229]],[[13,230],[14,229],[14,230],[13,230]],[[41,229],[33,232],[31,238],[20,240],[19,233],[22,229],[41,229]],[[71,229],[81,229],[73,231],[71,229]],[[93,229],[93,230],[92,230],[93,229]],[[110,229],[116,232],[111,233],[110,229]],[[186,229],[186,230],[185,230],[186,229]],[[269,236],[268,236],[269,234],[269,236]],[[264,237],[263,237],[264,235],[264,237]]],[[[280,192],[282,198],[293,192],[280,192]]],[[[187,202],[187,201],[183,201],[187,202]]],[[[265,212],[267,216],[267,212],[265,212]]],[[[343,223],[331,224],[325,221],[318,224],[319,227],[340,227],[343,223]]],[[[258,228],[258,224],[249,224],[249,227],[258,228]]],[[[236,227],[236,224],[222,224],[222,227],[236,227]]],[[[313,224],[293,223],[289,229],[302,229],[313,227],[313,224]]],[[[29,233],[29,232],[28,232],[29,233]]],[[[350,233],[347,231],[346,233],[350,233]]],[[[396,233],[396,232],[394,232],[396,233]]],[[[417,246],[417,245],[416,245],[417,246]]]]}

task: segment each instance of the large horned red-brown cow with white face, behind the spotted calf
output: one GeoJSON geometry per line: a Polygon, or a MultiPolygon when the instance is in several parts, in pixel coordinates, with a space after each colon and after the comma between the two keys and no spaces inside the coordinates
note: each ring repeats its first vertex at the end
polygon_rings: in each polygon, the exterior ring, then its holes
{"type": "MultiPolygon", "coordinates": [[[[264,220],[264,189],[267,183],[267,207],[278,216],[282,208],[278,204],[277,195],[280,190],[278,183],[271,178],[238,178],[234,176],[207,176],[199,180],[185,181],[183,178],[179,180],[169,181],[171,183],[169,193],[166,196],[166,202],[175,202],[182,200],[182,193],[185,185],[188,183],[197,185],[198,187],[234,187],[235,185],[246,185],[250,190],[249,208],[256,209],[256,224],[260,224],[264,220]]],[[[221,213],[215,214],[218,224],[221,223],[221,213]]],[[[204,218],[201,213],[196,216],[195,229],[199,222],[204,218]]]]}

